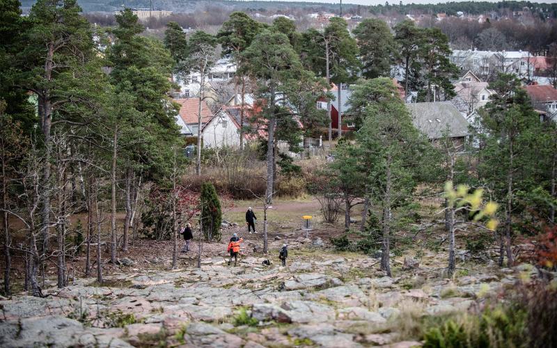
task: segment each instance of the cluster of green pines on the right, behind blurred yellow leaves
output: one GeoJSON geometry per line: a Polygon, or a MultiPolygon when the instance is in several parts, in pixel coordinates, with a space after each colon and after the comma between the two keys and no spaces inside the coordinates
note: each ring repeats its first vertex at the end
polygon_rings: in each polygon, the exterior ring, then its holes
{"type": "Polygon", "coordinates": [[[363,202],[360,229],[352,230],[356,240],[333,239],[336,246],[380,250],[381,269],[391,276],[389,253],[402,242],[401,231],[417,234],[412,226],[443,226],[449,276],[455,271],[458,230],[479,230],[486,241],[480,249],[498,245],[500,266],[505,259],[509,267],[515,263],[515,240],[533,239],[540,256],[533,260],[554,269],[554,232],[546,231],[555,223],[557,126],[553,120],[540,122],[526,90],[511,74],[500,74],[489,88],[497,94],[478,111],[470,140],[457,139],[446,129],[431,142],[414,127],[389,79],[354,86],[352,113],[361,119],[355,139],[339,142],[335,161],[311,187],[325,219],[344,207],[347,231],[352,207],[363,202]],[[445,198],[439,218],[422,221],[420,197],[436,196],[445,198]]]}

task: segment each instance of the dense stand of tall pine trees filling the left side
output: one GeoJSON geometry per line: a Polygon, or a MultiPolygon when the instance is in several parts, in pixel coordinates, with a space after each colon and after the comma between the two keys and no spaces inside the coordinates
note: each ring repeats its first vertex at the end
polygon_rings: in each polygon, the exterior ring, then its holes
{"type": "Polygon", "coordinates": [[[63,287],[67,259],[83,247],[84,273],[96,263],[102,282],[102,244],[113,263],[127,250],[146,185],[177,221],[182,143],[168,97],[172,58],[162,42],[139,35],[130,10],[109,31],[95,31],[75,0],[40,0],[28,17],[19,1],[0,3],[3,292],[10,293],[13,253],[22,255],[24,287],[34,296],[45,263],[55,262],[63,287]],[[70,223],[77,213],[85,223],[70,223]]]}

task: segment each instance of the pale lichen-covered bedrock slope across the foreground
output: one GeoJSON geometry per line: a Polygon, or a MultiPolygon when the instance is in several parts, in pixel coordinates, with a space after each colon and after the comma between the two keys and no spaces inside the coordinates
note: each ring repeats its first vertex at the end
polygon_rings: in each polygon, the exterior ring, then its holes
{"type": "MultiPolygon", "coordinates": [[[[273,242],[273,247],[280,242],[273,242]]],[[[320,245],[320,242],[316,243],[320,245]]],[[[237,267],[206,258],[201,269],[126,271],[0,301],[2,347],[413,347],[423,318],[473,308],[534,273],[528,265],[467,265],[441,277],[446,254],[379,260],[292,242],[287,267],[247,256],[237,267]],[[414,262],[409,262],[413,260],[414,262]]]]}

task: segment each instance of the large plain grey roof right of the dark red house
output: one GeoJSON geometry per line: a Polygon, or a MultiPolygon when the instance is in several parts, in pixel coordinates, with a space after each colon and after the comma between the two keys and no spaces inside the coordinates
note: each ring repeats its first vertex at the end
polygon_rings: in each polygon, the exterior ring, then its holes
{"type": "Polygon", "coordinates": [[[414,126],[429,139],[441,139],[446,130],[450,138],[469,135],[469,123],[451,102],[406,104],[414,126]]]}

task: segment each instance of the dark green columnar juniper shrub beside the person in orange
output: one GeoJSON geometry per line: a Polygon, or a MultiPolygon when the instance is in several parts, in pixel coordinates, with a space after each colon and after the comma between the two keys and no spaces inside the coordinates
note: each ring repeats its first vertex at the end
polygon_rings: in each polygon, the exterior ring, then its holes
{"type": "Polygon", "coordinates": [[[221,239],[221,202],[217,196],[217,190],[213,184],[204,182],[201,186],[201,221],[203,223],[203,235],[207,240],[221,239]]]}

